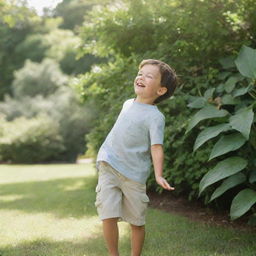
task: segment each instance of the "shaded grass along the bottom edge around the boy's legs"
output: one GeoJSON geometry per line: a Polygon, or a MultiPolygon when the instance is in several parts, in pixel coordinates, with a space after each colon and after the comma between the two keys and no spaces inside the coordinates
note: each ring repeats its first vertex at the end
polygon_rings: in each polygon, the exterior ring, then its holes
{"type": "MultiPolygon", "coordinates": [[[[175,222],[181,221],[177,228],[171,218],[169,220],[170,226],[167,224],[165,227],[157,227],[157,230],[155,230],[156,223],[149,224],[143,256],[255,256],[253,237],[250,241],[246,241],[246,237],[241,238],[239,234],[225,231],[216,233],[214,229],[207,230],[206,226],[194,223],[190,223],[189,227],[189,223],[182,223],[184,222],[182,218],[175,219],[175,222]]],[[[126,233],[120,238],[120,255],[129,256],[129,234],[126,233]]],[[[101,232],[96,230],[89,239],[85,237],[76,241],[53,241],[41,238],[24,241],[15,246],[2,246],[0,255],[107,256],[108,254],[101,232]]]]}

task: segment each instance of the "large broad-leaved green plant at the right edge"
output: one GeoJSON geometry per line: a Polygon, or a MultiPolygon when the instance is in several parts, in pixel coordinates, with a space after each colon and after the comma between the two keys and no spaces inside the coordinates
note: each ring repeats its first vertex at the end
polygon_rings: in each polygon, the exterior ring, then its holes
{"type": "Polygon", "coordinates": [[[209,157],[209,161],[218,158],[218,163],[200,181],[199,195],[221,181],[210,198],[212,201],[239,185],[230,208],[234,220],[256,203],[256,50],[243,46],[233,64],[230,58],[222,59],[221,63],[224,71],[218,76],[219,86],[209,88],[203,97],[192,97],[188,104],[200,110],[190,120],[187,133],[201,124],[194,151],[219,138],[209,157]]]}

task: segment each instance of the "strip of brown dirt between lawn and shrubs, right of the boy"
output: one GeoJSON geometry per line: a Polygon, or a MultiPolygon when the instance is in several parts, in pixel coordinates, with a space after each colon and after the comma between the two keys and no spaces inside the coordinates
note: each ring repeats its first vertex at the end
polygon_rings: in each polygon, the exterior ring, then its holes
{"type": "Polygon", "coordinates": [[[248,217],[231,221],[228,211],[210,209],[200,202],[191,202],[185,197],[175,196],[170,192],[164,191],[162,194],[157,194],[156,192],[149,191],[148,195],[150,198],[149,206],[151,208],[157,208],[166,212],[185,216],[192,221],[203,222],[209,225],[225,226],[256,232],[256,227],[247,224],[248,217]]]}

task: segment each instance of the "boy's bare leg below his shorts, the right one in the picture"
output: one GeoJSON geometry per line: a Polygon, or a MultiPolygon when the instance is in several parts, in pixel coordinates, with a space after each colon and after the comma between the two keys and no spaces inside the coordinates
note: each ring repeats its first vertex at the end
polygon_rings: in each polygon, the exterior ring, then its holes
{"type": "Polygon", "coordinates": [[[131,256],[140,256],[145,240],[145,226],[131,224],[131,256]]]}

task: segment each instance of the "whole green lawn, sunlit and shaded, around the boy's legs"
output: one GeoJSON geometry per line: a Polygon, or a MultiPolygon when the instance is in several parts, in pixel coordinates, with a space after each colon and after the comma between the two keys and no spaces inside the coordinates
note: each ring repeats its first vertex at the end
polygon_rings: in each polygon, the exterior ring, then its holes
{"type": "MultiPolygon", "coordinates": [[[[0,256],[105,256],[92,164],[0,166],[0,256]]],[[[256,255],[255,233],[149,209],[143,256],[256,255]]],[[[120,223],[121,256],[130,255],[120,223]]]]}

